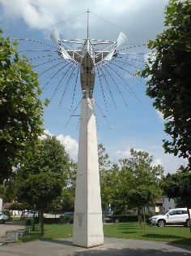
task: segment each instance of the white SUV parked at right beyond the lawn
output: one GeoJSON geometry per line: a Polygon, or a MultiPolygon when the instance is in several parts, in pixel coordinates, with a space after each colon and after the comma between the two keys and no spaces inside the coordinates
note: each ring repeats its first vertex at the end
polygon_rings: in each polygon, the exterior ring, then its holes
{"type": "Polygon", "coordinates": [[[189,227],[189,215],[186,208],[176,208],[161,215],[152,216],[150,222],[151,225],[158,225],[159,227],[164,227],[166,224],[183,224],[189,227]]]}

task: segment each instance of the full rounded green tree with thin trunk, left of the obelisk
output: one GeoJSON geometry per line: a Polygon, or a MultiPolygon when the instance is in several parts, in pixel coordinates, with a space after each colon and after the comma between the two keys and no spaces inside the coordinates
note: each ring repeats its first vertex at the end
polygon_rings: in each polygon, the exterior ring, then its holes
{"type": "Polygon", "coordinates": [[[18,170],[18,199],[40,210],[41,234],[44,233],[43,214],[53,199],[62,195],[67,185],[70,158],[56,137],[39,141],[36,152],[18,170]]]}

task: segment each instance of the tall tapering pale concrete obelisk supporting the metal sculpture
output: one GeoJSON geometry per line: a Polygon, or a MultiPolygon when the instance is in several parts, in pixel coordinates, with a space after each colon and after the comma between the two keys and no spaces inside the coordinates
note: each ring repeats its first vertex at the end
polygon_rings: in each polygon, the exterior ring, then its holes
{"type": "Polygon", "coordinates": [[[82,99],[74,206],[73,245],[86,248],[104,244],[94,106],[82,99]]]}

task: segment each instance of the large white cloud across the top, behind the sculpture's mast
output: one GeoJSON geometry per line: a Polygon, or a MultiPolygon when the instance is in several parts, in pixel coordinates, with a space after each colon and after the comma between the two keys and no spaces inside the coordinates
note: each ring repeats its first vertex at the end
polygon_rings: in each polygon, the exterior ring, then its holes
{"type": "Polygon", "coordinates": [[[87,14],[79,14],[90,8],[95,14],[90,15],[91,36],[108,40],[116,37],[121,28],[116,26],[115,31],[111,23],[104,21],[110,20],[113,24],[126,28],[129,40],[129,34],[138,34],[148,39],[155,37],[155,34],[162,30],[163,10],[168,0],[126,0],[121,4],[114,0],[0,0],[0,4],[3,8],[3,20],[22,19],[30,28],[36,30],[68,20],[58,26],[66,37],[82,37],[86,33],[87,14]],[[104,20],[100,20],[96,15],[104,20]],[[78,17],[71,20],[74,16],[78,17]]]}

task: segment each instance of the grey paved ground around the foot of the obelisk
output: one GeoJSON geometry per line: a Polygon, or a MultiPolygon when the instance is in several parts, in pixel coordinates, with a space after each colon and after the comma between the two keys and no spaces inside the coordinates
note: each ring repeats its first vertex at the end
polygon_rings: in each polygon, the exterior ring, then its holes
{"type": "Polygon", "coordinates": [[[104,238],[104,245],[84,249],[72,245],[71,238],[52,241],[31,241],[0,247],[1,256],[178,256],[191,255],[190,245],[168,244],[155,241],[139,241],[104,238]]]}

